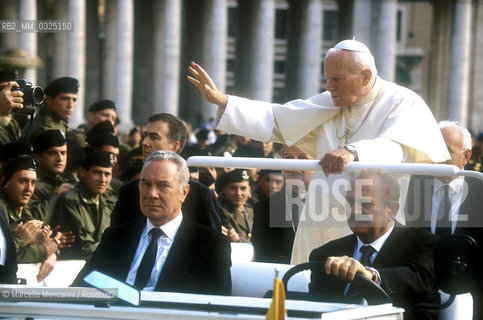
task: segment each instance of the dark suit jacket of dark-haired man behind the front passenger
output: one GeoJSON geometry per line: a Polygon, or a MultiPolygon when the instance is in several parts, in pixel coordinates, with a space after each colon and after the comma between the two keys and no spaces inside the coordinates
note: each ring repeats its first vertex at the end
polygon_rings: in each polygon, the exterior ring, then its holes
{"type": "MultiPolygon", "coordinates": [[[[221,232],[220,213],[213,191],[194,180],[189,184],[190,192],[181,207],[183,216],[221,232]]],[[[139,179],[126,183],[119,191],[111,214],[111,226],[138,219],[145,219],[139,207],[139,179]]]]}

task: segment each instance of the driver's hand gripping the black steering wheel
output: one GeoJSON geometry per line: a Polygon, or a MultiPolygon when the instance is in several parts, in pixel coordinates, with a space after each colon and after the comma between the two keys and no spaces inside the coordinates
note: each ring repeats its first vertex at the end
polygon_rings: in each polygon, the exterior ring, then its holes
{"type": "Polygon", "coordinates": [[[325,273],[344,281],[353,281],[357,272],[362,273],[368,279],[372,278],[372,272],[354,258],[348,256],[329,257],[325,262],[325,273]]]}

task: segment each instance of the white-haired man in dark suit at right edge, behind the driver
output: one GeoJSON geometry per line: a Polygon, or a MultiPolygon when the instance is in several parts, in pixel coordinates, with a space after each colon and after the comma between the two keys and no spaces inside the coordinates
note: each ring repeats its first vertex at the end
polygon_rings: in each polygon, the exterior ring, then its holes
{"type": "MultiPolygon", "coordinates": [[[[441,134],[451,159],[446,164],[464,170],[471,158],[471,134],[457,122],[441,121],[441,134]]],[[[466,234],[476,240],[483,266],[483,181],[472,177],[412,176],[405,205],[406,225],[425,228],[440,237],[466,234]]],[[[481,318],[481,277],[469,288],[474,319],[481,318]]]]}

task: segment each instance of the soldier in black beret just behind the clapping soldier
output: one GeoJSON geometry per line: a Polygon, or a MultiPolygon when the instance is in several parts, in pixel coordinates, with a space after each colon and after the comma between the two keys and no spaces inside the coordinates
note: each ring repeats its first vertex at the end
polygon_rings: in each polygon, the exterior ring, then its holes
{"type": "Polygon", "coordinates": [[[67,141],[62,131],[42,132],[35,139],[33,149],[38,179],[29,208],[36,219],[50,223],[57,200],[70,191],[79,179],[65,171],[67,141]]]}

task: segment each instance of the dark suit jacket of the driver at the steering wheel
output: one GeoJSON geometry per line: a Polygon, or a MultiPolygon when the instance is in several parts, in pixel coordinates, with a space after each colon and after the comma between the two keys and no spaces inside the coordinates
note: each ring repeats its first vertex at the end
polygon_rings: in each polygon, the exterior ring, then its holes
{"type": "MultiPolygon", "coordinates": [[[[433,250],[437,237],[422,229],[405,228],[399,224],[387,238],[372,267],[381,275],[381,287],[394,305],[406,311],[415,304],[439,304],[434,275],[433,250]]],[[[357,246],[354,234],[331,241],[310,254],[309,261],[325,261],[330,256],[352,257],[357,246]]],[[[324,276],[324,270],[312,270],[309,292],[326,300],[343,297],[347,282],[324,276]]],[[[435,319],[436,312],[422,310],[406,313],[405,319],[435,319]]]]}

